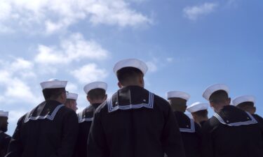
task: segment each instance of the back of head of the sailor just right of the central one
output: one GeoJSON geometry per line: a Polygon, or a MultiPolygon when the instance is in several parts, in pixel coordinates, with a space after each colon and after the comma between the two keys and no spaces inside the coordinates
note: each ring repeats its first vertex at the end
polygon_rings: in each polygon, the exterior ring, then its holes
{"type": "Polygon", "coordinates": [[[173,111],[185,112],[187,110],[187,100],[183,98],[168,98],[173,111]]]}

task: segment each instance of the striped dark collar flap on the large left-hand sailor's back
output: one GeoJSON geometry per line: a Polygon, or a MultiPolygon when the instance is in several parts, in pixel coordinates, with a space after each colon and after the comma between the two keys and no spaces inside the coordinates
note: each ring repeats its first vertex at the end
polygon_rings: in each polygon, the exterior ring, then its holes
{"type": "Polygon", "coordinates": [[[24,122],[27,123],[27,121],[29,120],[36,121],[38,119],[48,119],[50,121],[53,121],[55,115],[63,106],[63,104],[55,105],[52,103],[46,103],[46,101],[44,101],[43,103],[35,107],[31,112],[27,112],[24,122]]]}

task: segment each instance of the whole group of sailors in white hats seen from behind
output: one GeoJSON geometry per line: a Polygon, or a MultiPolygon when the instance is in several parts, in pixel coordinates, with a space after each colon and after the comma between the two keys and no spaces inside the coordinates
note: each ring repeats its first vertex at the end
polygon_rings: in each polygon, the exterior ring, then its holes
{"type": "MultiPolygon", "coordinates": [[[[19,119],[12,139],[1,122],[0,155],[9,143],[6,157],[263,156],[263,123],[255,114],[255,98],[241,96],[229,105],[229,88],[214,84],[203,92],[215,111],[208,119],[208,104],[187,107],[189,94],[169,91],[166,101],[144,89],[146,71],[140,60],[119,61],[114,73],[120,89],[107,99],[106,83],[87,84],[90,106],[78,115],[78,95],[67,94],[67,82],[42,82],[46,101],[19,119]]],[[[1,111],[0,119],[7,121],[6,113],[1,111]]]]}

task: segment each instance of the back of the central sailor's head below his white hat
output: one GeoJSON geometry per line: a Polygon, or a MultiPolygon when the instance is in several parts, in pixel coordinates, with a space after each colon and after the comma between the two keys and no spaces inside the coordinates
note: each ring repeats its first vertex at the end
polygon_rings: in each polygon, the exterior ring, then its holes
{"type": "Polygon", "coordinates": [[[143,77],[143,73],[138,68],[125,67],[116,72],[119,82],[123,85],[137,85],[140,83],[140,78],[143,77]]]}

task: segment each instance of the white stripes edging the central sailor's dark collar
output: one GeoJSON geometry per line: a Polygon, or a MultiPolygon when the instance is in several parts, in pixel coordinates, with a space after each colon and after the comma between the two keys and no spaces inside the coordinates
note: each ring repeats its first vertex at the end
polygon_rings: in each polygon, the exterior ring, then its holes
{"type": "Polygon", "coordinates": [[[109,112],[114,112],[116,110],[130,110],[130,109],[137,109],[137,108],[142,108],[142,107],[147,107],[147,108],[154,108],[154,94],[149,92],[149,103],[141,103],[137,105],[116,105],[115,107],[112,106],[112,97],[107,100],[107,105],[108,105],[108,111],[109,112]]]}

